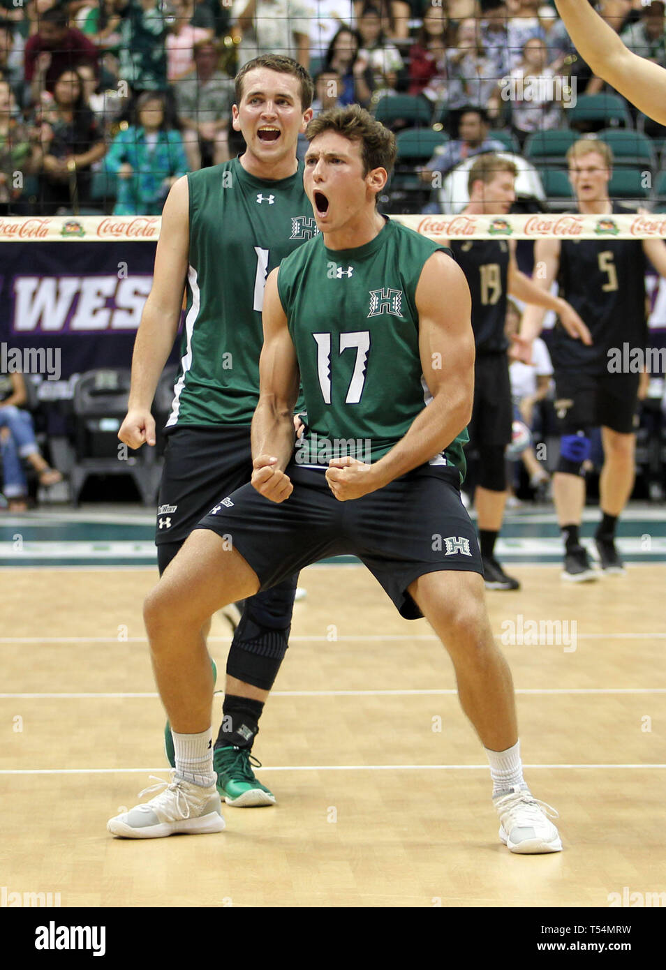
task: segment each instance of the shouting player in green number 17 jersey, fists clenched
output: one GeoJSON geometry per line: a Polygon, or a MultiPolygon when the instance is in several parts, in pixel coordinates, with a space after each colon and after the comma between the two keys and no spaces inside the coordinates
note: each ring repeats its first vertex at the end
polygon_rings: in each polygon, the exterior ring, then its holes
{"type": "MultiPolygon", "coordinates": [[[[294,569],[354,554],[404,617],[425,616],[446,644],[490,761],[500,838],[516,853],[557,852],[557,829],[522,778],[511,672],[460,501],[474,380],[467,283],[441,245],[377,211],[395,158],[382,124],[353,106],[320,114],[306,135],[322,235],[267,281],[251,484],[220,496],[147,599],[160,694],[172,724],[200,738],[207,774],[208,617],[294,569]],[[295,450],[299,376],[308,429],[295,450]]],[[[130,838],[215,831],[215,796],[181,773],[108,827],[130,838]]]]}

